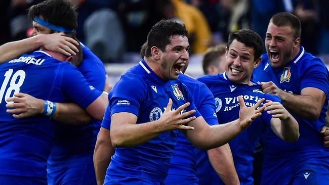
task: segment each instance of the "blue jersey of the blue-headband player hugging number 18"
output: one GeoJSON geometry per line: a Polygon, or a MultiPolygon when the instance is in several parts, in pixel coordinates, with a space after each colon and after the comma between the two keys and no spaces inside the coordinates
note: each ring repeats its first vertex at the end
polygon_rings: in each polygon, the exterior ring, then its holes
{"type": "MultiPolygon", "coordinates": [[[[87,81],[97,90],[103,91],[106,71],[102,61],[89,48],[81,43],[83,61],[77,67],[87,81]]],[[[57,164],[65,160],[63,165],[71,163],[92,163],[97,134],[101,121],[93,119],[87,126],[71,126],[58,123],[56,125],[55,145],[49,156],[49,164],[57,164]],[[71,157],[73,157],[71,159],[71,157]],[[77,160],[76,157],[80,156],[77,160]],[[85,159],[83,159],[85,158],[85,159]]]]}

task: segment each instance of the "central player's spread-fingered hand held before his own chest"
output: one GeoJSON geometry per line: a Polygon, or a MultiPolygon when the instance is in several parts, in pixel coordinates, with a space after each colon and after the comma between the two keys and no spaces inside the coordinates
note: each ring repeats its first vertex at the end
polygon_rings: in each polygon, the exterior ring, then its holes
{"type": "Polygon", "coordinates": [[[190,103],[186,103],[174,111],[172,111],[172,105],[173,105],[173,101],[172,99],[169,99],[169,103],[166,107],[165,112],[163,112],[160,119],[158,119],[160,123],[160,130],[161,131],[171,131],[175,129],[193,130],[194,127],[185,126],[184,124],[194,120],[196,117],[193,116],[187,119],[184,118],[194,114],[195,110],[190,110],[188,112],[181,114],[181,111],[187,108],[190,105],[190,103]]]}

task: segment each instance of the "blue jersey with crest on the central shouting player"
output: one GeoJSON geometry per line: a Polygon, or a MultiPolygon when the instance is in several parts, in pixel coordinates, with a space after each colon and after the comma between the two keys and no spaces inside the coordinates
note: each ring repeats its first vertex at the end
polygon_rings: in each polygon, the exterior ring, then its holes
{"type": "MultiPolygon", "coordinates": [[[[147,124],[160,118],[169,98],[173,100],[172,109],[177,109],[186,102],[191,104],[182,112],[196,109],[190,92],[179,79],[162,80],[142,60],[122,75],[111,90],[110,115],[129,112],[138,117],[137,124],[147,124]]],[[[198,117],[200,114],[196,111],[191,116],[198,117]]],[[[163,182],[168,174],[177,135],[178,130],[162,132],[142,145],[115,148],[107,175],[122,178],[132,176],[163,182]]]]}

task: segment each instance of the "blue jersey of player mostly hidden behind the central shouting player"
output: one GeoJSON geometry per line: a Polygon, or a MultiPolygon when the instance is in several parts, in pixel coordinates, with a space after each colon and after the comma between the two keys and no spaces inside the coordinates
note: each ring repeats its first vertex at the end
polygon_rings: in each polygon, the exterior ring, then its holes
{"type": "MultiPolygon", "coordinates": [[[[215,100],[209,88],[186,75],[180,74],[180,79],[191,92],[196,109],[202,115],[204,120],[210,124],[218,124],[217,115],[215,112],[215,100]]],[[[173,158],[170,161],[169,174],[194,176],[196,173],[195,156],[196,147],[194,147],[184,136],[179,132],[173,158]]]]}

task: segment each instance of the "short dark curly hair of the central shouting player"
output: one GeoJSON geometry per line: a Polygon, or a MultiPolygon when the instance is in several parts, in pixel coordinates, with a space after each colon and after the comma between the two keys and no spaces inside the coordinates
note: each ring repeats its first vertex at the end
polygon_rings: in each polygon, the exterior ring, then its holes
{"type": "Polygon", "coordinates": [[[147,34],[145,56],[151,56],[151,48],[153,46],[159,48],[161,51],[165,51],[166,46],[171,42],[170,37],[174,35],[187,36],[185,25],[170,20],[160,20],[157,22],[147,34]]]}

